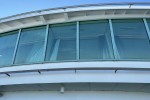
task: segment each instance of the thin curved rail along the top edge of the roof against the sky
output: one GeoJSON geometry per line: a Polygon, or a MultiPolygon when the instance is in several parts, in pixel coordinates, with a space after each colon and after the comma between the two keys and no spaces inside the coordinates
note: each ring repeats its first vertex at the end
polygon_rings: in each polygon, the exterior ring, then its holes
{"type": "MultiPolygon", "coordinates": [[[[150,6],[150,2],[118,2],[118,3],[98,3],[98,4],[84,4],[84,5],[75,5],[75,6],[65,6],[65,7],[57,7],[57,8],[49,8],[49,9],[42,9],[42,10],[36,10],[36,11],[30,11],[30,12],[25,12],[21,14],[16,14],[4,18],[0,18],[0,22],[3,22],[3,20],[6,19],[11,19],[13,17],[18,17],[22,15],[28,15],[28,14],[33,14],[33,13],[39,13],[41,14],[42,12],[45,11],[52,11],[52,10],[66,10],[66,9],[71,9],[71,8],[86,8],[86,7],[104,7],[108,6],[109,9],[111,9],[111,6],[128,6],[129,8],[134,8],[134,6],[138,6],[139,8],[142,6],[145,6],[145,9],[147,8],[146,6],[150,6]]],[[[143,8],[143,7],[142,7],[143,8]]],[[[148,7],[150,9],[150,7],[148,7]]]]}

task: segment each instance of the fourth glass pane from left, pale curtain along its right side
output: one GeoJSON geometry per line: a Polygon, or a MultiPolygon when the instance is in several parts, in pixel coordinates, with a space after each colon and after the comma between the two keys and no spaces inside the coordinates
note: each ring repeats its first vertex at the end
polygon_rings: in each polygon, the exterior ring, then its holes
{"type": "Polygon", "coordinates": [[[80,22],[80,59],[112,59],[107,20],[80,22]]]}

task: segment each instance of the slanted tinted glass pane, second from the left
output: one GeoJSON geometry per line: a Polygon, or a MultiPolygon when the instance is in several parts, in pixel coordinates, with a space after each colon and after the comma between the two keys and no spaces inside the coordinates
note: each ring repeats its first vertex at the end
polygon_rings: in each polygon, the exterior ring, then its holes
{"type": "Polygon", "coordinates": [[[21,32],[15,63],[33,63],[44,60],[46,27],[24,29],[21,32]]]}

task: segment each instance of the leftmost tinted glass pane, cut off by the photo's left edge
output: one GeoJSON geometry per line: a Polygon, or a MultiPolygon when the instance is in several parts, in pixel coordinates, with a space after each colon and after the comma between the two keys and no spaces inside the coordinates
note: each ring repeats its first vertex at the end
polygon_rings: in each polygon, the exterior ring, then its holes
{"type": "Polygon", "coordinates": [[[4,33],[0,35],[0,65],[12,64],[18,32],[4,33]]]}

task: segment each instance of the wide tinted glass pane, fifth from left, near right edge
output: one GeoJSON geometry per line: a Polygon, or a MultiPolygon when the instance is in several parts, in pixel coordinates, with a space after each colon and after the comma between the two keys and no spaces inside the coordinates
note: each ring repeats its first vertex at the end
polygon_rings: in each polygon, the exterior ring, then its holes
{"type": "Polygon", "coordinates": [[[120,59],[149,59],[150,44],[142,19],[112,20],[120,59]]]}

